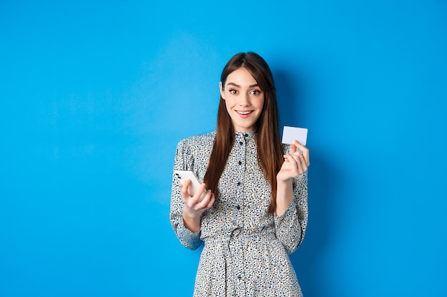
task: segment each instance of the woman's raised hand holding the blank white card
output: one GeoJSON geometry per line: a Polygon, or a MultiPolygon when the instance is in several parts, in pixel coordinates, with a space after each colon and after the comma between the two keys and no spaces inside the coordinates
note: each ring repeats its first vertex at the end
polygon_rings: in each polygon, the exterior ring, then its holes
{"type": "Polygon", "coordinates": [[[308,148],[294,140],[290,147],[290,152],[284,155],[284,162],[276,179],[286,182],[288,179],[306,172],[309,165],[311,165],[311,162],[309,160],[308,148]]]}

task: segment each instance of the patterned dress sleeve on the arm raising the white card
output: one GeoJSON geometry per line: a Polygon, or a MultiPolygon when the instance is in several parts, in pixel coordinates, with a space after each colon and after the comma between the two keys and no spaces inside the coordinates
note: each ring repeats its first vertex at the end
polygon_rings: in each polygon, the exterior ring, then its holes
{"type": "Polygon", "coordinates": [[[274,217],[276,237],[281,241],[288,254],[298,249],[306,233],[307,206],[307,171],[293,178],[293,200],[286,212],[274,217]]]}

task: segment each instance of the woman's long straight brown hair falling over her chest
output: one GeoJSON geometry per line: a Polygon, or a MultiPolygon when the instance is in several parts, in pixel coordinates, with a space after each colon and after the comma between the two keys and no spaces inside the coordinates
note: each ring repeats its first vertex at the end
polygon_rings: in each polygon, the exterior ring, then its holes
{"type": "MultiPolygon", "coordinates": [[[[258,163],[264,170],[271,184],[271,207],[276,209],[276,174],[283,164],[283,153],[278,131],[278,106],[276,105],[276,90],[273,75],[266,61],[257,53],[237,53],[233,56],[221,73],[222,86],[230,73],[238,68],[245,68],[256,80],[264,92],[264,103],[261,115],[255,124],[256,147],[258,148],[258,163]]],[[[226,110],[225,100],[219,100],[217,112],[216,139],[204,177],[206,186],[218,196],[218,184],[234,143],[234,129],[230,115],[226,110]]]]}

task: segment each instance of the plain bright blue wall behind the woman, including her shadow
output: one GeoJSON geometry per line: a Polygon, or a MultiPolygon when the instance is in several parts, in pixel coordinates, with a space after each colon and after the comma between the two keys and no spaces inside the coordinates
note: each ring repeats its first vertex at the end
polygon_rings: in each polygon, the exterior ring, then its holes
{"type": "Polygon", "coordinates": [[[177,142],[256,51],[308,127],[306,297],[446,296],[447,4],[1,1],[0,296],[191,296],[177,142]]]}

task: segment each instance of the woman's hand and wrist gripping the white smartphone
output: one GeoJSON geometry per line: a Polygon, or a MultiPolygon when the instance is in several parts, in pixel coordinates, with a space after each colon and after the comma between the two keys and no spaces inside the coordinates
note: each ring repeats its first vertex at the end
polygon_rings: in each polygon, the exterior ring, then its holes
{"type": "Polygon", "coordinates": [[[190,184],[190,179],[180,184],[184,202],[183,219],[186,228],[196,233],[200,230],[200,215],[213,206],[215,197],[211,189],[205,192],[206,184],[201,184],[196,194],[191,196],[188,192],[190,184]]]}

